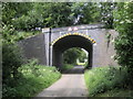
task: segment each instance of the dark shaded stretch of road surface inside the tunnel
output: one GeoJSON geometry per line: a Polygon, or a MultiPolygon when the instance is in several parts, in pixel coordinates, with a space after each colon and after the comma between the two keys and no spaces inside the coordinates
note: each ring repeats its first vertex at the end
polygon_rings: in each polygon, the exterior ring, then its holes
{"type": "Polygon", "coordinates": [[[83,74],[84,66],[74,66],[72,69],[65,70],[62,74],[83,74]]]}

